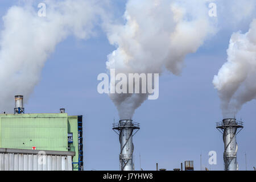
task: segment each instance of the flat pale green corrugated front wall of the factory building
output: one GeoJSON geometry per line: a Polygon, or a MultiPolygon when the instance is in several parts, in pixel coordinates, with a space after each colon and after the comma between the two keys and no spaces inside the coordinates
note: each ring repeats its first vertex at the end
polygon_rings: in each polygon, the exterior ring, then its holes
{"type": "Polygon", "coordinates": [[[67,113],[0,114],[0,147],[68,151],[67,113]]]}

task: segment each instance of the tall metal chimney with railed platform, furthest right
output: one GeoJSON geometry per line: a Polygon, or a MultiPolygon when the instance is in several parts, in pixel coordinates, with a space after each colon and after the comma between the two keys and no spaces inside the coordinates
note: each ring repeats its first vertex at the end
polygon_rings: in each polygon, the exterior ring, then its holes
{"type": "Polygon", "coordinates": [[[237,171],[237,139],[243,129],[243,122],[234,118],[223,119],[216,123],[216,128],[223,134],[225,171],[237,171]],[[237,129],[240,129],[237,132],[237,129]]]}

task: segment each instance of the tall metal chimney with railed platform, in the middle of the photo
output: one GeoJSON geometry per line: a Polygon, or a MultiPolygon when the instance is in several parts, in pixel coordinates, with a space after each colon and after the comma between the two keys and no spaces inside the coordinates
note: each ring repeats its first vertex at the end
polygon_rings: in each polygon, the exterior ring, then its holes
{"type": "Polygon", "coordinates": [[[119,135],[121,152],[119,155],[121,171],[133,171],[133,135],[140,129],[139,123],[131,119],[122,119],[119,123],[113,123],[113,130],[119,135]],[[133,134],[133,131],[135,133],[133,134]]]}

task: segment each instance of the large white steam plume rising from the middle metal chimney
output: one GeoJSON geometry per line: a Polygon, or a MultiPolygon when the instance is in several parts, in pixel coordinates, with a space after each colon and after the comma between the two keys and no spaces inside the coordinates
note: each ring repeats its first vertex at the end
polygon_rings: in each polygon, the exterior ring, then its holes
{"type": "MultiPolygon", "coordinates": [[[[188,53],[196,52],[216,29],[208,15],[209,1],[129,0],[125,24],[108,27],[109,42],[117,49],[106,66],[116,73],[179,75],[188,53]],[[208,3],[207,3],[208,2],[208,3]]],[[[109,94],[119,117],[129,119],[148,94],[109,94]]]]}

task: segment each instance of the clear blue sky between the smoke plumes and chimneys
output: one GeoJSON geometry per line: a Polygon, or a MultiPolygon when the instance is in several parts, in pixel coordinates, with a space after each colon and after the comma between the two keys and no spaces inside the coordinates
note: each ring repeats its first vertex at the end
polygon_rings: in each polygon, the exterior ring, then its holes
{"type": "MultiPolygon", "coordinates": [[[[0,16],[17,2],[1,0],[0,16]]],[[[117,18],[123,14],[125,3],[115,3],[117,18]]],[[[185,160],[194,160],[195,169],[200,170],[200,155],[203,169],[224,168],[224,143],[215,128],[222,114],[212,79],[226,61],[232,32],[246,32],[250,22],[218,31],[185,58],[181,76],[164,72],[160,77],[158,100],[145,101],[133,117],[141,123],[141,130],[134,136],[135,169],[139,169],[139,154],[144,170],[155,170],[155,163],[172,170],[185,160]],[[217,152],[217,165],[208,164],[209,151],[217,152]]],[[[26,113],[57,113],[64,107],[69,115],[84,115],[85,170],[119,170],[119,140],[112,130],[113,119],[118,120],[117,109],[108,95],[97,92],[97,76],[106,72],[107,55],[115,47],[100,28],[97,32],[89,40],[69,36],[57,45],[25,107],[26,113]]],[[[237,114],[245,122],[237,136],[241,170],[245,170],[245,152],[247,169],[256,166],[256,144],[252,142],[256,139],[255,108],[256,102],[251,101],[237,114]]]]}

